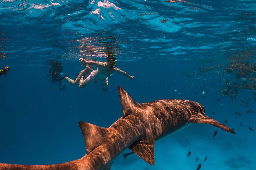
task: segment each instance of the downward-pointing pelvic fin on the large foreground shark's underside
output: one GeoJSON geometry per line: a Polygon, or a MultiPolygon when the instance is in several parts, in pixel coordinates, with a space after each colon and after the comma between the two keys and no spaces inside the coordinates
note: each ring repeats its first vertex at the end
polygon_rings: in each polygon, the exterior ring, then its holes
{"type": "Polygon", "coordinates": [[[144,139],[142,138],[140,141],[134,142],[129,148],[136,153],[141,159],[149,163],[150,165],[154,165],[155,163],[155,140],[154,139],[144,139]]]}

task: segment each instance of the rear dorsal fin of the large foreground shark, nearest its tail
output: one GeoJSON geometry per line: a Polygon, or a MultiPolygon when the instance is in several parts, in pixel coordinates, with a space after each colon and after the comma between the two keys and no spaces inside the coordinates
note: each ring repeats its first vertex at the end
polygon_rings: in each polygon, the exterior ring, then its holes
{"type": "Polygon", "coordinates": [[[87,154],[98,147],[108,134],[108,128],[99,127],[90,123],[79,122],[79,126],[84,135],[87,154]]]}

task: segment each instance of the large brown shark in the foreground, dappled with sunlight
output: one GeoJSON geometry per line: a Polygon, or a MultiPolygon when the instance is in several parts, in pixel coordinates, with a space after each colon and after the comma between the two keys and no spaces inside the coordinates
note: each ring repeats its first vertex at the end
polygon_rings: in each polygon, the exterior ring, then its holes
{"type": "Polygon", "coordinates": [[[204,115],[204,107],[183,99],[137,103],[117,87],[123,117],[109,128],[79,122],[87,154],[74,161],[53,165],[16,165],[0,163],[0,170],[110,170],[114,159],[130,148],[153,165],[155,141],[186,127],[189,123],[206,123],[235,133],[228,126],[204,115]]]}

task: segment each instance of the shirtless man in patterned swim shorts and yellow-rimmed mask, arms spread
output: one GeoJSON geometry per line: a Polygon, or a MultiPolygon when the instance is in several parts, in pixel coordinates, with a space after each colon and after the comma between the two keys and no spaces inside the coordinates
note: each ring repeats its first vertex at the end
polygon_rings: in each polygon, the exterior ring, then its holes
{"type": "Polygon", "coordinates": [[[91,61],[91,60],[85,60],[83,58],[80,58],[80,62],[83,63],[81,66],[84,65],[92,65],[97,66],[97,70],[94,70],[90,73],[90,76],[88,76],[84,80],[84,76],[81,76],[81,79],[79,81],[79,87],[84,88],[89,83],[99,83],[101,85],[101,88],[103,91],[108,90],[108,77],[112,76],[114,73],[120,73],[123,74],[126,77],[129,77],[131,80],[134,79],[134,76],[130,76],[126,72],[120,70],[119,68],[116,68],[116,61],[115,57],[113,55],[109,55],[107,59],[107,62],[97,62],[97,61],[91,61]]]}

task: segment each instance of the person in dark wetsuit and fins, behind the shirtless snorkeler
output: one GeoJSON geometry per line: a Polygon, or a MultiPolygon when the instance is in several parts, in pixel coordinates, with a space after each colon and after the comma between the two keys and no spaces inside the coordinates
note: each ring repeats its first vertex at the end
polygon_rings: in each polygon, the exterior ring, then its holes
{"type": "Polygon", "coordinates": [[[59,82],[59,89],[60,90],[65,90],[66,89],[66,84],[63,84],[63,87],[61,87],[61,80],[64,79],[66,76],[62,76],[62,69],[63,69],[63,66],[61,65],[61,63],[57,63],[57,62],[54,62],[53,63],[53,66],[50,68],[47,76],[49,77],[50,74],[52,74],[52,83],[57,83],[59,82]],[[53,69],[53,71],[52,71],[53,69]],[[52,71],[52,73],[51,73],[52,71]]]}

